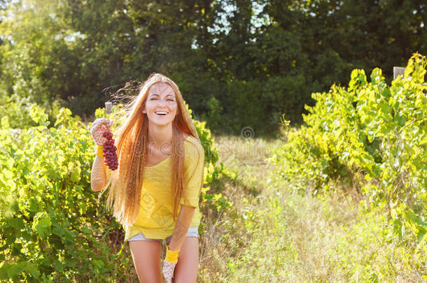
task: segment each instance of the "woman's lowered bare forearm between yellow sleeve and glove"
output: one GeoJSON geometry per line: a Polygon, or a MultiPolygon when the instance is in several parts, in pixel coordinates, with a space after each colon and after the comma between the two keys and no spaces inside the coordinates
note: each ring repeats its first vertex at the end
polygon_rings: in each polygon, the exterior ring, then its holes
{"type": "Polygon", "coordinates": [[[176,219],[174,235],[172,235],[172,240],[169,243],[169,249],[171,251],[181,249],[184,240],[186,240],[188,228],[190,228],[191,219],[193,219],[195,210],[196,208],[193,208],[193,206],[181,205],[181,210],[176,219]]]}

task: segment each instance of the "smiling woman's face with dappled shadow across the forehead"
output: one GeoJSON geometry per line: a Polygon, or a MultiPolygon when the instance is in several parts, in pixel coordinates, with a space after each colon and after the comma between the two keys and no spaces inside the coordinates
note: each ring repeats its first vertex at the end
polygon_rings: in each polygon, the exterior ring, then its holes
{"type": "Polygon", "coordinates": [[[148,121],[160,126],[174,120],[177,108],[174,89],[166,82],[158,82],[148,89],[146,106],[142,113],[147,114],[148,121]]]}

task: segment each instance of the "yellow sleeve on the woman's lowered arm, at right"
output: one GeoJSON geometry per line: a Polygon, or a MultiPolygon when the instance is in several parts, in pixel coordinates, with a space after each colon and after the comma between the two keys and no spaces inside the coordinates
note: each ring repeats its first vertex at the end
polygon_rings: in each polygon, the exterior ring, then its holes
{"type": "Polygon", "coordinates": [[[181,205],[199,207],[199,196],[203,186],[204,149],[200,143],[186,147],[184,157],[185,178],[181,205]]]}

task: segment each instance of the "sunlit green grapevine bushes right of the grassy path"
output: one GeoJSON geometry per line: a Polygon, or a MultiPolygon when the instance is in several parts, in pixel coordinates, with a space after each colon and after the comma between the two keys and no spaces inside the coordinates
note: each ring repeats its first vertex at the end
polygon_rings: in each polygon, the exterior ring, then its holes
{"type": "MultiPolygon", "coordinates": [[[[414,54],[405,75],[387,85],[375,68],[353,70],[349,87],[314,93],[300,129],[288,129],[288,143],[272,161],[290,186],[317,193],[342,182],[366,196],[365,207],[382,208],[391,233],[427,231],[426,57],[414,54]],[[402,228],[406,227],[406,228],[402,228]],[[406,230],[405,230],[406,229],[406,230]]],[[[423,244],[424,245],[424,244],[423,244]]]]}

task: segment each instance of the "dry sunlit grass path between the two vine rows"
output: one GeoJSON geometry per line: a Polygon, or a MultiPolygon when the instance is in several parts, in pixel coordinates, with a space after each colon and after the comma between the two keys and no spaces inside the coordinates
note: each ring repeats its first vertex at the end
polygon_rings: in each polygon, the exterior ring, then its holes
{"type": "Polygon", "coordinates": [[[361,216],[342,190],[286,189],[265,161],[283,140],[214,140],[228,168],[221,192],[233,205],[204,212],[199,282],[422,281],[407,268],[410,254],[386,239],[381,213],[361,216]]]}

